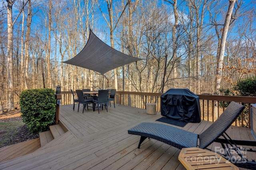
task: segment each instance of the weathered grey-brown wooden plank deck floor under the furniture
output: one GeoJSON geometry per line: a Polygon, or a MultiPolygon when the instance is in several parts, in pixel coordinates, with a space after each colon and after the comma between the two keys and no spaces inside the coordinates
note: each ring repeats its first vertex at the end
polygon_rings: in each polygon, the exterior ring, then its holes
{"type": "MultiPolygon", "coordinates": [[[[82,107],[79,112],[77,109],[77,104],[75,111],[73,105],[60,106],[60,124],[68,131],[33,153],[0,163],[0,169],[185,169],[178,161],[179,149],[154,139],[146,139],[137,149],[140,137],[127,132],[140,122],[155,122],[162,117],[159,112],[148,115],[145,109],[117,104],[116,108],[108,107],[108,113],[104,109],[98,114],[91,107],[84,113],[82,107]]],[[[188,123],[182,129],[201,133],[211,123],[188,123]]],[[[254,140],[250,129],[230,127],[227,133],[232,139],[254,140]]],[[[213,143],[209,148],[216,146],[213,143]]]]}

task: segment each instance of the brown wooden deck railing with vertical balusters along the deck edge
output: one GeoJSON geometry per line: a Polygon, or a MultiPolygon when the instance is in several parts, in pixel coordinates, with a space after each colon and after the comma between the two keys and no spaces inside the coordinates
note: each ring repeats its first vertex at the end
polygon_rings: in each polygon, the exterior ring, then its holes
{"type": "MultiPolygon", "coordinates": [[[[61,92],[62,104],[73,104],[71,92],[61,92]]],[[[160,96],[162,93],[146,92],[116,92],[115,103],[131,107],[146,109],[146,103],[156,103],[157,111],[161,109],[160,96]]],[[[224,111],[229,102],[234,101],[246,106],[241,116],[235,121],[236,126],[251,127],[250,124],[250,104],[256,103],[256,97],[247,96],[217,96],[217,95],[197,95],[200,99],[201,119],[215,121],[224,111]],[[214,107],[213,107],[214,106],[214,107]]]]}

